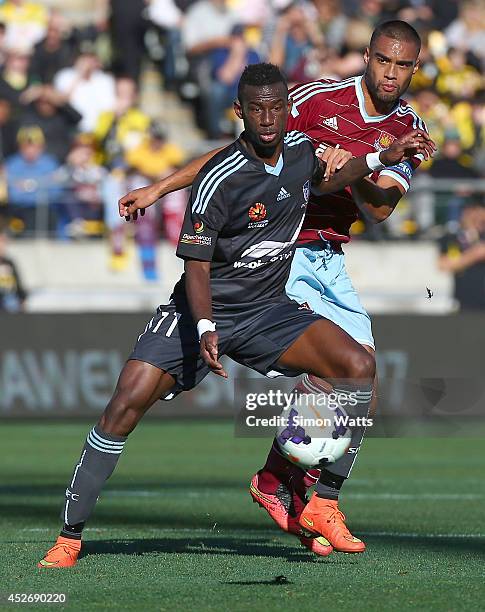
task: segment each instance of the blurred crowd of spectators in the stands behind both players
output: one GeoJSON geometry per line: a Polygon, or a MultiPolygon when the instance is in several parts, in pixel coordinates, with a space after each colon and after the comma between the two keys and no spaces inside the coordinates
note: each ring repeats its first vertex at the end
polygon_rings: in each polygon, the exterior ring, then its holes
{"type": "MultiPolygon", "coordinates": [[[[290,82],[359,74],[373,28],[390,18],[423,40],[408,98],[439,155],[419,174],[465,183],[431,208],[411,193],[384,231],[458,231],[463,205],[483,197],[466,180],[485,173],[485,0],[100,0],[82,27],[62,7],[0,2],[0,210],[14,236],[108,235],[111,266],[122,269],[118,197],[191,153],[141,108],[147,65],[205,138],[221,140],[237,132],[232,100],[247,63],[277,63],[290,82]]],[[[176,240],[184,204],[183,194],[165,198],[137,225],[146,278],[157,278],[154,244],[176,240]]]]}

